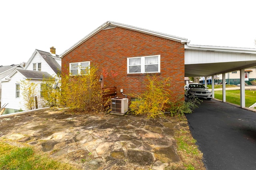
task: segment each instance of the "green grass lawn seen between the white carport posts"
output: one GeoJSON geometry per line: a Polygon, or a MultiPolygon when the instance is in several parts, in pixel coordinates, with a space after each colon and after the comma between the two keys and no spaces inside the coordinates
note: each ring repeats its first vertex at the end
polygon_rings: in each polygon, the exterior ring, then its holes
{"type": "MultiPolygon", "coordinates": [[[[214,91],[214,98],[222,100],[222,91],[214,91]]],[[[226,102],[240,105],[240,90],[226,90],[226,102]]],[[[245,107],[256,102],[256,91],[245,90],[245,107]]]]}

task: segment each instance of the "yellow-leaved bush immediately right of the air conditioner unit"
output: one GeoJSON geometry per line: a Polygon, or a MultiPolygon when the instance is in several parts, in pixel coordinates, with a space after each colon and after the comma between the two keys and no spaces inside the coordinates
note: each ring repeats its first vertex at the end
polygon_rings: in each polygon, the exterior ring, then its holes
{"type": "Polygon", "coordinates": [[[170,96],[170,90],[166,88],[170,78],[162,81],[157,80],[156,76],[147,78],[146,91],[136,96],[137,99],[130,104],[130,109],[135,115],[147,115],[154,119],[164,115],[170,96]]]}

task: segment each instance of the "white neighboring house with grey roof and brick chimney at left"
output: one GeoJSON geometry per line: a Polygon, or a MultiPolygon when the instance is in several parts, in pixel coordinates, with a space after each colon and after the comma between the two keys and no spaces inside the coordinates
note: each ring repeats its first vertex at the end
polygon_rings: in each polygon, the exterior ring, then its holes
{"type": "MultiPolygon", "coordinates": [[[[50,50],[51,53],[36,49],[26,63],[24,70],[15,69],[0,80],[2,82],[1,107],[7,104],[4,114],[26,110],[20,86],[21,80],[30,80],[30,82],[38,84],[37,97],[40,101],[43,78],[57,77],[60,74],[61,59],[55,55],[54,47],[51,47],[50,50]]],[[[40,107],[43,106],[38,103],[38,108],[40,107]]]]}

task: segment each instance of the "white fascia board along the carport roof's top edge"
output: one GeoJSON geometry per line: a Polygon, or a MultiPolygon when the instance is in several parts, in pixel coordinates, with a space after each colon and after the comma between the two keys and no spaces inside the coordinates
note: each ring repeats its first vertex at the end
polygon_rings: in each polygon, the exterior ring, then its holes
{"type": "Polygon", "coordinates": [[[256,54],[256,49],[185,44],[185,50],[215,51],[228,53],[256,54]]]}

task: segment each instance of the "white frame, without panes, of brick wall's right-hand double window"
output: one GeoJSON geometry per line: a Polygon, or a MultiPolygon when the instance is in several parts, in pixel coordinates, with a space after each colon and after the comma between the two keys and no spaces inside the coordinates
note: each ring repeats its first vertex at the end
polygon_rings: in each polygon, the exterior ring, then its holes
{"type": "Polygon", "coordinates": [[[143,74],[143,73],[158,73],[160,72],[160,55],[150,55],[150,56],[142,56],[142,57],[130,57],[127,58],[127,74],[143,74]],[[145,72],[145,65],[150,65],[150,64],[145,64],[145,58],[147,57],[158,57],[158,71],[156,72],[145,72]],[[140,72],[129,72],[129,66],[135,66],[135,65],[129,65],[129,60],[130,59],[138,59],[140,58],[140,72]]]}

